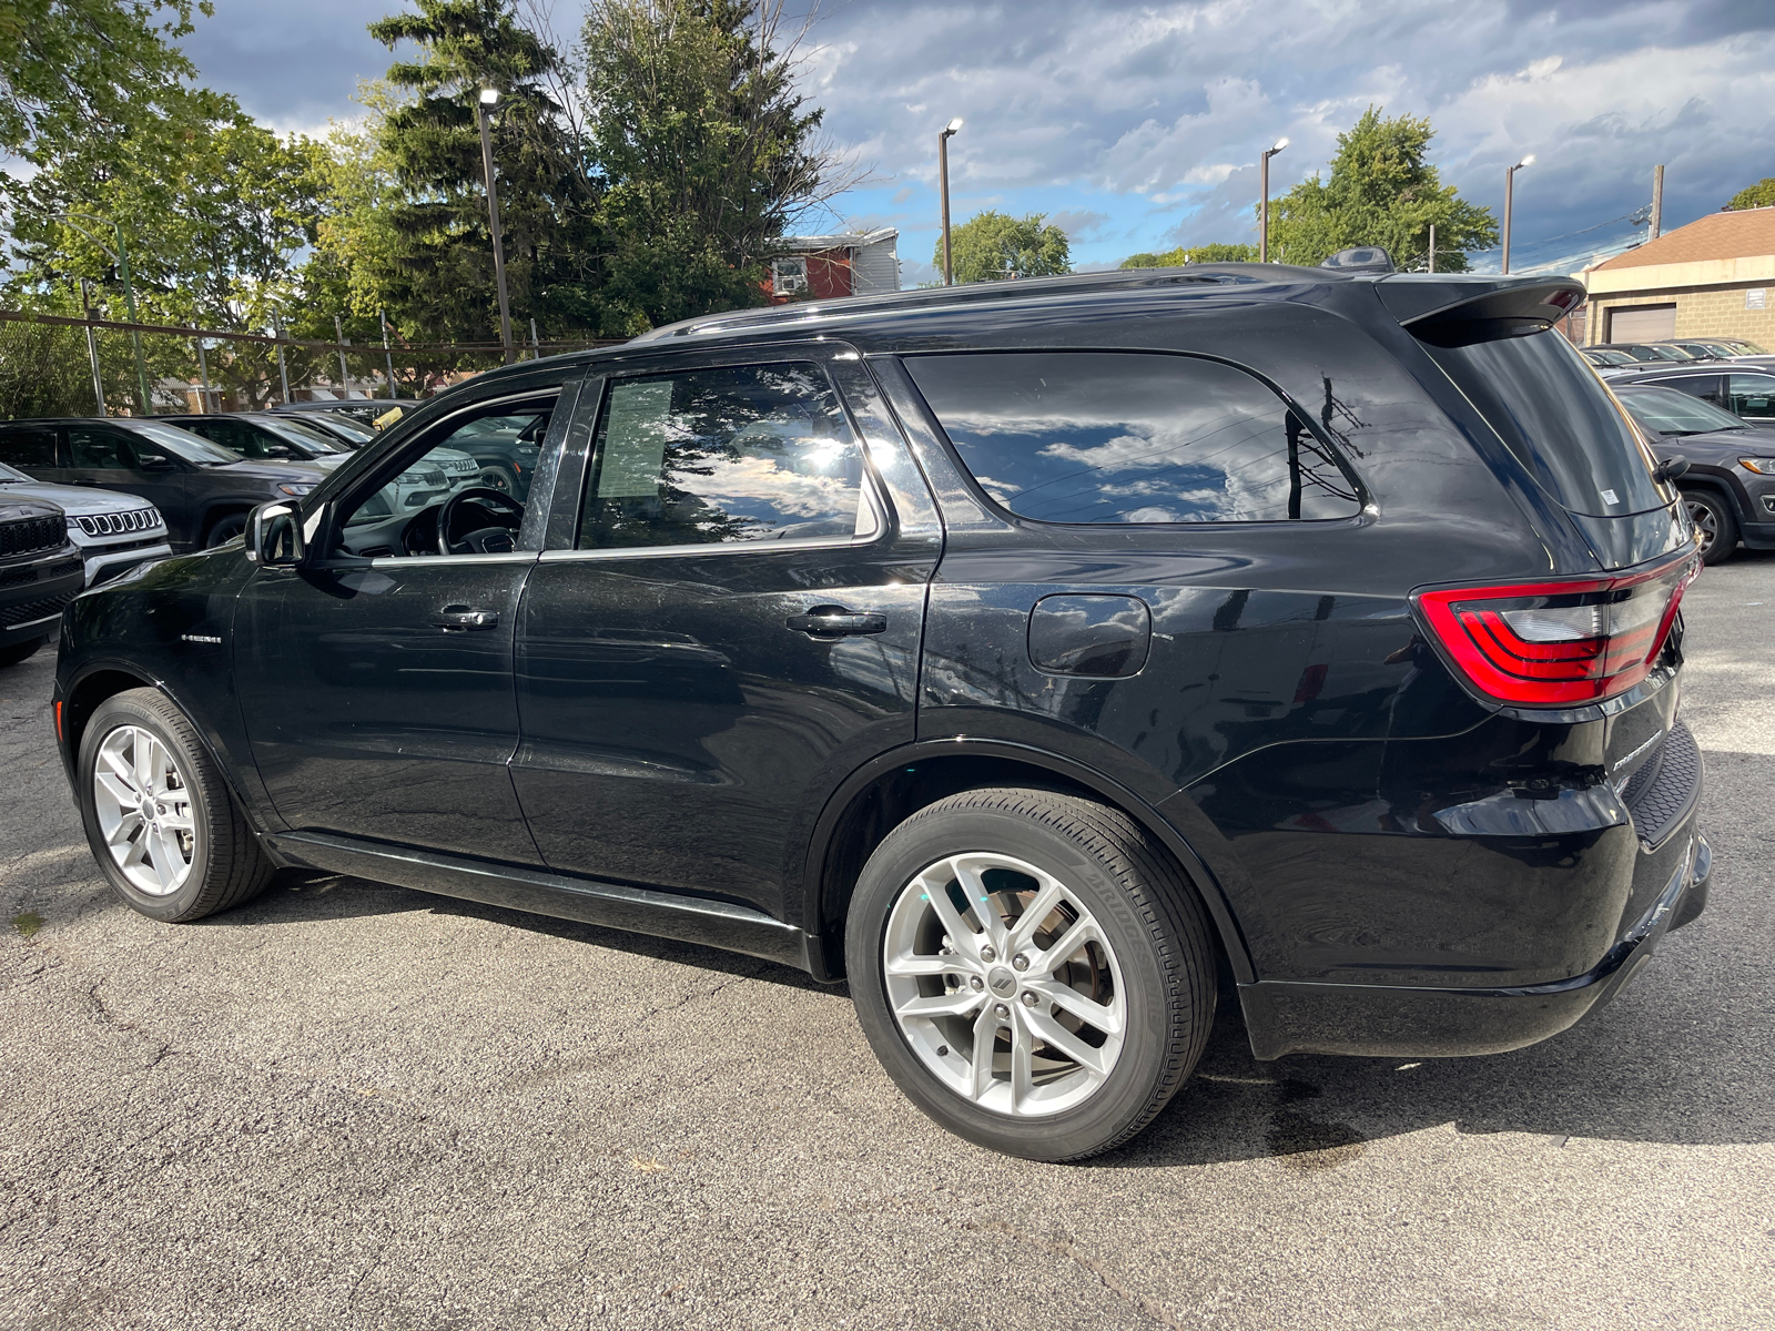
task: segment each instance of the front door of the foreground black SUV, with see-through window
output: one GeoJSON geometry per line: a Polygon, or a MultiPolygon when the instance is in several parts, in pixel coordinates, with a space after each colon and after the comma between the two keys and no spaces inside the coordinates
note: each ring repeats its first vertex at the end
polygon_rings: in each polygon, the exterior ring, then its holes
{"type": "Polygon", "coordinates": [[[291,829],[536,862],[506,765],[513,626],[543,525],[488,525],[470,532],[479,548],[438,554],[437,495],[398,477],[488,412],[540,417],[559,447],[582,373],[502,380],[492,399],[383,451],[309,515],[314,557],[252,575],[236,678],[254,761],[291,829]]]}

